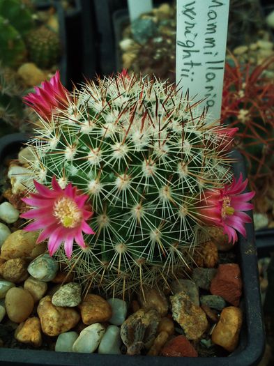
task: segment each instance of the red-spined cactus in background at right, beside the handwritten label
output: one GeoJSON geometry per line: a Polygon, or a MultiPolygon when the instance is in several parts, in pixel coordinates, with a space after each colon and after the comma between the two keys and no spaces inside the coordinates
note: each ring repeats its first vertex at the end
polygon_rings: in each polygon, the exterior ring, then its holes
{"type": "Polygon", "coordinates": [[[234,66],[227,63],[224,74],[222,121],[238,128],[236,148],[245,156],[257,193],[266,187],[274,166],[274,84],[266,77],[273,63],[271,57],[252,68],[234,58],[234,66]]]}

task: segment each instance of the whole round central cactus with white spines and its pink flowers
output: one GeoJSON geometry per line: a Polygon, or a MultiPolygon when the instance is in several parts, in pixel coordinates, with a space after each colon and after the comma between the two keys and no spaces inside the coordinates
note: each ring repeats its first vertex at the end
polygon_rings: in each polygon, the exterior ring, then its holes
{"type": "Polygon", "coordinates": [[[231,171],[235,129],[155,77],[123,71],[71,94],[54,77],[26,98],[40,127],[22,217],[82,283],[122,293],[169,280],[190,264],[212,212],[232,241],[235,229],[245,234],[252,195],[240,195],[247,182],[231,171]]]}

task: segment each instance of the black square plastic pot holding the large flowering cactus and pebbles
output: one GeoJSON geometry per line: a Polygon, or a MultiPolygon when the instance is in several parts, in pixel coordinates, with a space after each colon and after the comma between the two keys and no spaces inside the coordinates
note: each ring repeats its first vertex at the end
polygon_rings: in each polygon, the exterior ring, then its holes
{"type": "MultiPolygon", "coordinates": [[[[15,158],[15,154],[27,141],[22,134],[7,135],[0,139],[0,165],[7,158],[15,158]]],[[[234,152],[238,159],[234,165],[236,176],[245,167],[243,158],[234,152]]],[[[252,213],[250,213],[251,215],[252,213]]],[[[50,365],[50,366],[255,366],[258,365],[264,351],[264,324],[261,311],[261,297],[257,270],[257,252],[254,244],[253,225],[247,225],[247,238],[239,237],[236,252],[241,266],[243,279],[243,311],[244,322],[241,330],[241,340],[238,349],[228,357],[215,358],[165,358],[151,356],[116,356],[96,353],[56,353],[54,351],[39,351],[26,349],[5,349],[0,351],[0,365],[50,365]]]]}

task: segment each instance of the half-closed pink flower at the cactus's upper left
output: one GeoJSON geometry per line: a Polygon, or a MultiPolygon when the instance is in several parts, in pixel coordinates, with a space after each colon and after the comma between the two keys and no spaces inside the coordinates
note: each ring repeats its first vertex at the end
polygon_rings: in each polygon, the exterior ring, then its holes
{"type": "Polygon", "coordinates": [[[61,84],[59,70],[41,86],[34,86],[36,93],[29,93],[23,98],[26,105],[33,108],[43,119],[50,119],[56,108],[66,109],[69,105],[67,89],[61,84]]]}

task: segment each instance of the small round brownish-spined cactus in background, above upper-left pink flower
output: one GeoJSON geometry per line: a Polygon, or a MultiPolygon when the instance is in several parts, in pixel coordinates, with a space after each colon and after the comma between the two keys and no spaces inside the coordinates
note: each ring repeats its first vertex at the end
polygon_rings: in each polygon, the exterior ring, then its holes
{"type": "Polygon", "coordinates": [[[46,26],[29,32],[26,44],[30,61],[36,63],[40,68],[51,68],[60,59],[59,35],[46,26]]]}

